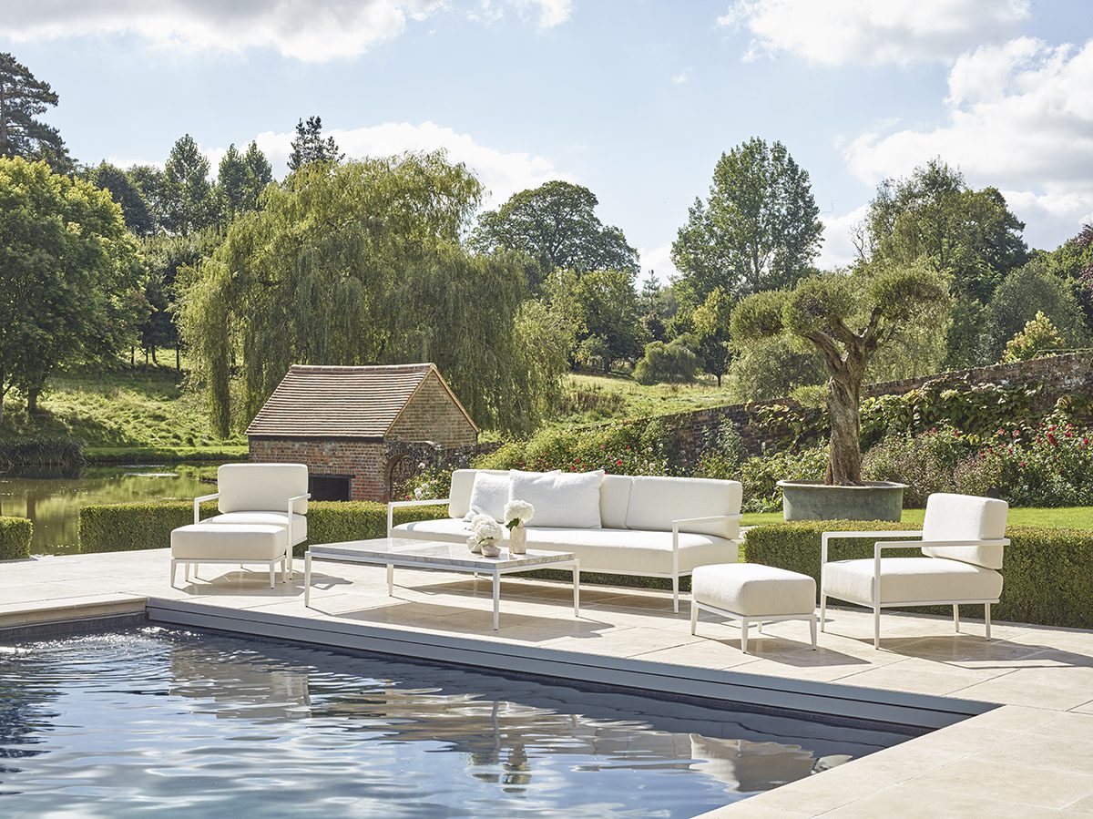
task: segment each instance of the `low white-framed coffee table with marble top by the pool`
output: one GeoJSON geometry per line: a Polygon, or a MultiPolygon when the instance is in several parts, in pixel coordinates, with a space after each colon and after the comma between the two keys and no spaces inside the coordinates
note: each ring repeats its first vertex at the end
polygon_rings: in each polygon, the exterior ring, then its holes
{"type": "Polygon", "coordinates": [[[428,569],[439,572],[490,575],[493,578],[493,630],[497,631],[501,612],[501,576],[533,569],[569,569],[573,571],[573,616],[580,617],[580,562],[572,552],[550,552],[529,549],[527,554],[502,551],[497,558],[473,553],[466,543],[412,538],[375,538],[346,540],[341,543],[316,543],[304,553],[304,605],[312,605],[312,561],[332,560],[342,563],[375,563],[387,566],[387,594],[395,594],[395,566],[428,569]]]}

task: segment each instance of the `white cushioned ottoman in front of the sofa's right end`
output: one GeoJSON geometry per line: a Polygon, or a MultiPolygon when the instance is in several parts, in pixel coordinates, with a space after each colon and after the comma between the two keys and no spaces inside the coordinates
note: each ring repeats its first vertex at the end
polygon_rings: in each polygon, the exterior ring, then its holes
{"type": "Polygon", "coordinates": [[[816,647],[816,582],[807,574],[761,563],[715,563],[691,575],[691,633],[698,609],[740,621],[740,647],[748,653],[748,624],[808,620],[816,647]]]}

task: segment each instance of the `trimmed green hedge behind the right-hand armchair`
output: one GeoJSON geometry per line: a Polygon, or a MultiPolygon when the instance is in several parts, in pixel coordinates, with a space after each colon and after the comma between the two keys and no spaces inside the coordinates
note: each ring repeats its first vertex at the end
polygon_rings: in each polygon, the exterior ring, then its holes
{"type": "MultiPolygon", "coordinates": [[[[891,530],[893,539],[912,524],[881,520],[809,520],[756,526],[748,531],[749,562],[788,569],[820,581],[820,536],[824,531],[891,530]]],[[[1002,596],[991,617],[1010,622],[1093,629],[1093,531],[1011,526],[1002,564],[1002,596]]],[[[837,539],[828,558],[872,558],[875,538],[837,539]]],[[[904,554],[914,552],[903,552],[904,554]]],[[[901,552],[892,552],[898,555],[901,552]]],[[[836,604],[837,605],[837,604],[836,604]]],[[[937,610],[937,607],[935,607],[937,610]]]]}

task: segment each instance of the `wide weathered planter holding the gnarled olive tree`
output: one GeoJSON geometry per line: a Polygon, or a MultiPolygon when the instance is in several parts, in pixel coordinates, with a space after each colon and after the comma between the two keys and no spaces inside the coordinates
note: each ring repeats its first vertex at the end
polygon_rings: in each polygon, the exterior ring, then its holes
{"type": "Polygon", "coordinates": [[[867,482],[832,487],[814,481],[778,481],[787,520],[898,520],[905,483],[867,482]]]}

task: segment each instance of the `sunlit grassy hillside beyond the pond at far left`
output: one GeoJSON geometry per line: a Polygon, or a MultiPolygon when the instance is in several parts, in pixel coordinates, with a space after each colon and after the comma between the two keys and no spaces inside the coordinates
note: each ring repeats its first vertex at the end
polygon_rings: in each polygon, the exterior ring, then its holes
{"type": "Polygon", "coordinates": [[[213,434],[201,397],[183,389],[173,367],[60,373],[39,403],[44,414],[32,418],[5,401],[0,440],[67,435],[82,441],[92,460],[232,459],[247,451],[242,435],[213,434]]]}

